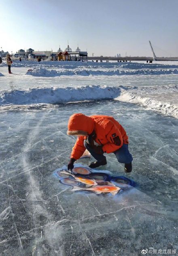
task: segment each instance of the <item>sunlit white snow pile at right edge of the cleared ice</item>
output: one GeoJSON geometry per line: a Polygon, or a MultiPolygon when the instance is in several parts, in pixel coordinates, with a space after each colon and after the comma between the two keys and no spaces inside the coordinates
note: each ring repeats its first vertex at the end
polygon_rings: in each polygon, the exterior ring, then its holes
{"type": "Polygon", "coordinates": [[[121,90],[115,100],[142,105],[146,109],[178,118],[178,85],[133,87],[121,90]]]}

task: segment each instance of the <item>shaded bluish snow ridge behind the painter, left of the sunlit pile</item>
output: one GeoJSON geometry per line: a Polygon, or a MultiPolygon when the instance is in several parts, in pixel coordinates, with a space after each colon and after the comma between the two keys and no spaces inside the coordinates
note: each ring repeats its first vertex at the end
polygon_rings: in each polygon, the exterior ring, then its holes
{"type": "MultiPolygon", "coordinates": [[[[33,88],[29,90],[1,91],[0,105],[63,103],[80,100],[97,100],[119,96],[121,88],[99,85],[64,88],[33,88]]],[[[125,87],[125,90],[127,88],[125,87]]]]}

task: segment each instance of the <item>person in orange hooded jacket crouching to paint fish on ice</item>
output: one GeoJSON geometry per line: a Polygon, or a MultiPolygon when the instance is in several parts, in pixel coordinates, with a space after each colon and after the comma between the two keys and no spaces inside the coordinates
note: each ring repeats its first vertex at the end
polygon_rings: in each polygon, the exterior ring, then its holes
{"type": "Polygon", "coordinates": [[[132,170],[133,160],[128,149],[128,136],[124,128],[113,117],[107,115],[86,116],[76,113],[70,116],[68,122],[68,135],[77,135],[78,138],[72,148],[68,170],[72,171],[74,162],[79,159],[85,149],[96,159],[89,164],[96,168],[107,164],[104,153],[114,153],[118,162],[125,164],[125,172],[132,170]]]}

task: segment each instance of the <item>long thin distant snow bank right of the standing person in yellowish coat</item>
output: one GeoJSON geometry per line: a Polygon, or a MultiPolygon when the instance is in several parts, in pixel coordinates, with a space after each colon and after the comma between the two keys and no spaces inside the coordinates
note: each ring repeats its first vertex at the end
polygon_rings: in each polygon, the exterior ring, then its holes
{"type": "Polygon", "coordinates": [[[32,71],[28,71],[26,75],[32,75],[36,77],[56,77],[56,76],[72,76],[72,75],[82,75],[82,76],[89,76],[89,75],[170,75],[170,74],[178,74],[178,69],[111,69],[111,70],[91,70],[91,69],[76,69],[76,70],[53,70],[53,69],[46,69],[46,68],[34,68],[32,71]]]}

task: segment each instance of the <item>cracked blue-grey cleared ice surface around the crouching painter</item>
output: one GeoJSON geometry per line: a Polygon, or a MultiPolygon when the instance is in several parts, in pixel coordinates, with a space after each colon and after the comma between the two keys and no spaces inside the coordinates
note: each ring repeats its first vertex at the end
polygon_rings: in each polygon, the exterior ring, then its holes
{"type": "MultiPolygon", "coordinates": [[[[0,114],[1,255],[141,255],[178,250],[178,120],[116,100],[21,106],[0,114]],[[129,135],[133,171],[114,154],[113,175],[138,187],[117,196],[72,192],[53,177],[67,164],[75,138],[68,118],[80,112],[114,116],[129,135]]],[[[92,160],[92,159],[91,159],[92,160]]],[[[88,164],[89,160],[78,160],[88,164]]]]}

